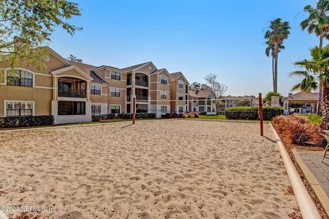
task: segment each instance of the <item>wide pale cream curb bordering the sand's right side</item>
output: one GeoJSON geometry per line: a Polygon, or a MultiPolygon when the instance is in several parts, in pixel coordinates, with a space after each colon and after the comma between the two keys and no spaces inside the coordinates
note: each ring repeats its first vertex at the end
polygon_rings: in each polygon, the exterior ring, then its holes
{"type": "Polygon", "coordinates": [[[278,144],[280,155],[282,157],[284,166],[286,167],[289,181],[291,183],[291,187],[293,188],[293,193],[295,194],[297,205],[300,208],[302,217],[304,219],[321,219],[319,211],[317,211],[317,207],[313,203],[312,198],[310,198],[310,195],[308,194],[302,179],[300,179],[300,175],[298,174],[295,166],[293,165],[293,162],[290,159],[289,153],[280,140],[280,136],[271,123],[269,123],[269,126],[271,127],[274,136],[276,137],[276,143],[278,144]]]}

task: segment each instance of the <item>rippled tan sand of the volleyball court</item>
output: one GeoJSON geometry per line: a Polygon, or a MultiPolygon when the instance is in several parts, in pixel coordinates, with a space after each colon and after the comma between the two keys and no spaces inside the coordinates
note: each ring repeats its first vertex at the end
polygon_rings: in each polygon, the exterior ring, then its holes
{"type": "Polygon", "coordinates": [[[295,196],[271,129],[261,138],[258,126],[154,120],[0,133],[0,206],[45,207],[41,218],[289,218],[295,196]]]}

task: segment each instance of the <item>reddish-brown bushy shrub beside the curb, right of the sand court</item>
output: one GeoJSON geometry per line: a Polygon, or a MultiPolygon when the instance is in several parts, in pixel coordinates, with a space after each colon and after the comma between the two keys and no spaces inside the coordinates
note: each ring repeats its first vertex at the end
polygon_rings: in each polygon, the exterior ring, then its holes
{"type": "Polygon", "coordinates": [[[274,124],[280,133],[288,135],[288,139],[293,144],[302,146],[326,145],[326,140],[320,135],[319,125],[313,124],[306,116],[277,116],[274,118],[274,124]]]}

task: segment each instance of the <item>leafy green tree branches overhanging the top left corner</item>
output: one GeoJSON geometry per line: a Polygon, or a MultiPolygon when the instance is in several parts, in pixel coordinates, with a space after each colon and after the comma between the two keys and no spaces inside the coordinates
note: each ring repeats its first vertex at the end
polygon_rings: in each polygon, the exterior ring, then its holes
{"type": "Polygon", "coordinates": [[[9,58],[12,68],[21,59],[42,66],[47,55],[42,45],[51,41],[56,27],[71,35],[81,30],[67,22],[80,15],[77,3],[66,0],[0,1],[0,60],[9,58]]]}

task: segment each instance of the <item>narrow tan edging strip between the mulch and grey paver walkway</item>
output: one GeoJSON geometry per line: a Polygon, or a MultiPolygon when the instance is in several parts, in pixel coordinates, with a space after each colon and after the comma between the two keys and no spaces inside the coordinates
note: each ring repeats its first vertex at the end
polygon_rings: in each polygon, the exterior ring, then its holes
{"type": "Polygon", "coordinates": [[[312,188],[313,192],[315,193],[315,196],[317,196],[317,199],[319,199],[319,202],[321,203],[321,206],[324,208],[324,211],[326,212],[326,215],[329,216],[329,197],[327,196],[326,192],[322,189],[319,181],[315,178],[315,176],[308,170],[307,166],[302,161],[302,158],[298,154],[298,151],[293,149],[291,150],[293,152],[293,156],[295,157],[295,160],[302,170],[306,180],[308,183],[310,183],[310,187],[312,188]]]}

